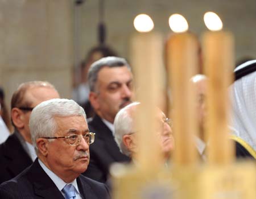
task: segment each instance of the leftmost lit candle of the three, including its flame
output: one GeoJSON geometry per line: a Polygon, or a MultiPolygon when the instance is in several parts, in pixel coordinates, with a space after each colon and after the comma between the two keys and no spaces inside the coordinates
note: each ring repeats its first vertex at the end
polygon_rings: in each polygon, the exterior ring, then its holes
{"type": "Polygon", "coordinates": [[[143,169],[156,168],[160,165],[160,147],[156,142],[156,109],[160,99],[160,67],[162,67],[162,37],[157,32],[150,32],[154,23],[148,15],[138,15],[134,20],[137,29],[131,38],[131,65],[138,92],[137,101],[141,103],[137,129],[139,131],[138,161],[143,169]]]}

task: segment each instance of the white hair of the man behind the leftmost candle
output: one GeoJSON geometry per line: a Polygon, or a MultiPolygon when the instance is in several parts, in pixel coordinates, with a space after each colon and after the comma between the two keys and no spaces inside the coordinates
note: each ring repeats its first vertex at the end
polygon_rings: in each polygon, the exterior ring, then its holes
{"type": "Polygon", "coordinates": [[[127,150],[125,144],[123,144],[123,135],[128,135],[134,132],[134,118],[131,111],[135,106],[138,106],[139,102],[130,103],[119,110],[114,120],[114,139],[122,154],[130,156],[131,152],[127,150]]]}

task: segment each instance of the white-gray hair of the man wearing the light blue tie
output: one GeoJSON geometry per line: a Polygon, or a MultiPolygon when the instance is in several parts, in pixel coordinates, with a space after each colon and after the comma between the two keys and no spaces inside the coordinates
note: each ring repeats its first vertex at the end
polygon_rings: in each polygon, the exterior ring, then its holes
{"type": "Polygon", "coordinates": [[[50,99],[37,105],[30,115],[30,133],[32,143],[38,152],[36,139],[52,137],[57,130],[55,117],[83,116],[84,109],[72,99],[50,99]]]}

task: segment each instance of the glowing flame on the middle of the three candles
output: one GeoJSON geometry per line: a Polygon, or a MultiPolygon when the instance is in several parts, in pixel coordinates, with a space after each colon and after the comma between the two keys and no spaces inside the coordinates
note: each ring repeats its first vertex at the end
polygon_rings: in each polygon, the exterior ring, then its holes
{"type": "Polygon", "coordinates": [[[188,30],[188,22],[184,16],[173,14],[169,18],[169,26],[174,32],[185,32],[188,30]]]}

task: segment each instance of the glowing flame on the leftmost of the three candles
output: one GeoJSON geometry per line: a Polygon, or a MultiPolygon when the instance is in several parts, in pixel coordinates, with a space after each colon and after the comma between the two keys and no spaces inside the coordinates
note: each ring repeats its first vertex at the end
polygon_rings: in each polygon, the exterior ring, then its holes
{"type": "Polygon", "coordinates": [[[150,32],[154,28],[154,22],[150,16],[139,14],[134,19],[134,27],[139,32],[150,32]]]}

